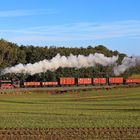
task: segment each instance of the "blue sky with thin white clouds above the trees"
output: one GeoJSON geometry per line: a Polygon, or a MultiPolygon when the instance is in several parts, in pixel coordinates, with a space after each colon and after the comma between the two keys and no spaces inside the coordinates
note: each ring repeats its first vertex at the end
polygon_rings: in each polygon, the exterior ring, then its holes
{"type": "Polygon", "coordinates": [[[1,0],[0,38],[140,55],[140,0],[1,0]]]}

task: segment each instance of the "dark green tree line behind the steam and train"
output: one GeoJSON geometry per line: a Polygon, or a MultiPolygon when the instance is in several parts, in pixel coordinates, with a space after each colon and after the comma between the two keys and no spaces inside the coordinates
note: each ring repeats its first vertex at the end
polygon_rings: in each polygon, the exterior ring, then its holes
{"type": "MultiPolygon", "coordinates": [[[[112,51],[107,49],[103,45],[87,46],[85,47],[58,47],[58,46],[33,46],[33,45],[17,45],[15,43],[0,39],[0,70],[17,65],[19,63],[35,63],[44,59],[50,60],[57,54],[69,56],[73,55],[89,55],[94,53],[102,53],[107,57],[119,56],[118,63],[121,63],[126,56],[124,53],[118,51],[112,51]]],[[[136,66],[133,69],[125,72],[125,76],[132,73],[139,73],[140,66],[136,66]]],[[[103,67],[97,65],[96,67],[89,68],[58,68],[56,71],[47,71],[35,75],[29,74],[6,74],[1,75],[1,78],[15,78],[27,81],[55,81],[59,77],[108,77],[113,75],[112,66],[103,67]]]]}

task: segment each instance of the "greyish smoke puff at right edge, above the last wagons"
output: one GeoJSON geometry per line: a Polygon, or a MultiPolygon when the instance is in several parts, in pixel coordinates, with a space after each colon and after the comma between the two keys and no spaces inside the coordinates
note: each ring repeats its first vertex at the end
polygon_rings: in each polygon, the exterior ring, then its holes
{"type": "Polygon", "coordinates": [[[124,57],[122,64],[114,67],[114,74],[118,76],[136,65],[140,65],[140,57],[124,57]]]}

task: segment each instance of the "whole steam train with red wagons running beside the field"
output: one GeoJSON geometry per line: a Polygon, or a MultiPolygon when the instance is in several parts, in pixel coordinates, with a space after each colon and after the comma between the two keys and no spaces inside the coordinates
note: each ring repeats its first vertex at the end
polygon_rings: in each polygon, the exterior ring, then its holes
{"type": "Polygon", "coordinates": [[[103,85],[128,85],[139,84],[140,78],[123,78],[123,77],[109,77],[109,78],[73,78],[61,77],[57,81],[43,81],[43,82],[22,82],[17,80],[0,80],[0,88],[28,88],[28,87],[57,87],[57,86],[103,86],[103,85]]]}

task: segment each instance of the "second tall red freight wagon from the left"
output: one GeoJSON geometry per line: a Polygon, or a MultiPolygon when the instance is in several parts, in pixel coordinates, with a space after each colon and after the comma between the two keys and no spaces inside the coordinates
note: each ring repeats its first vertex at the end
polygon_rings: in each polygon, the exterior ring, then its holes
{"type": "Polygon", "coordinates": [[[77,78],[76,81],[78,85],[91,85],[92,84],[92,78],[77,78]]]}

